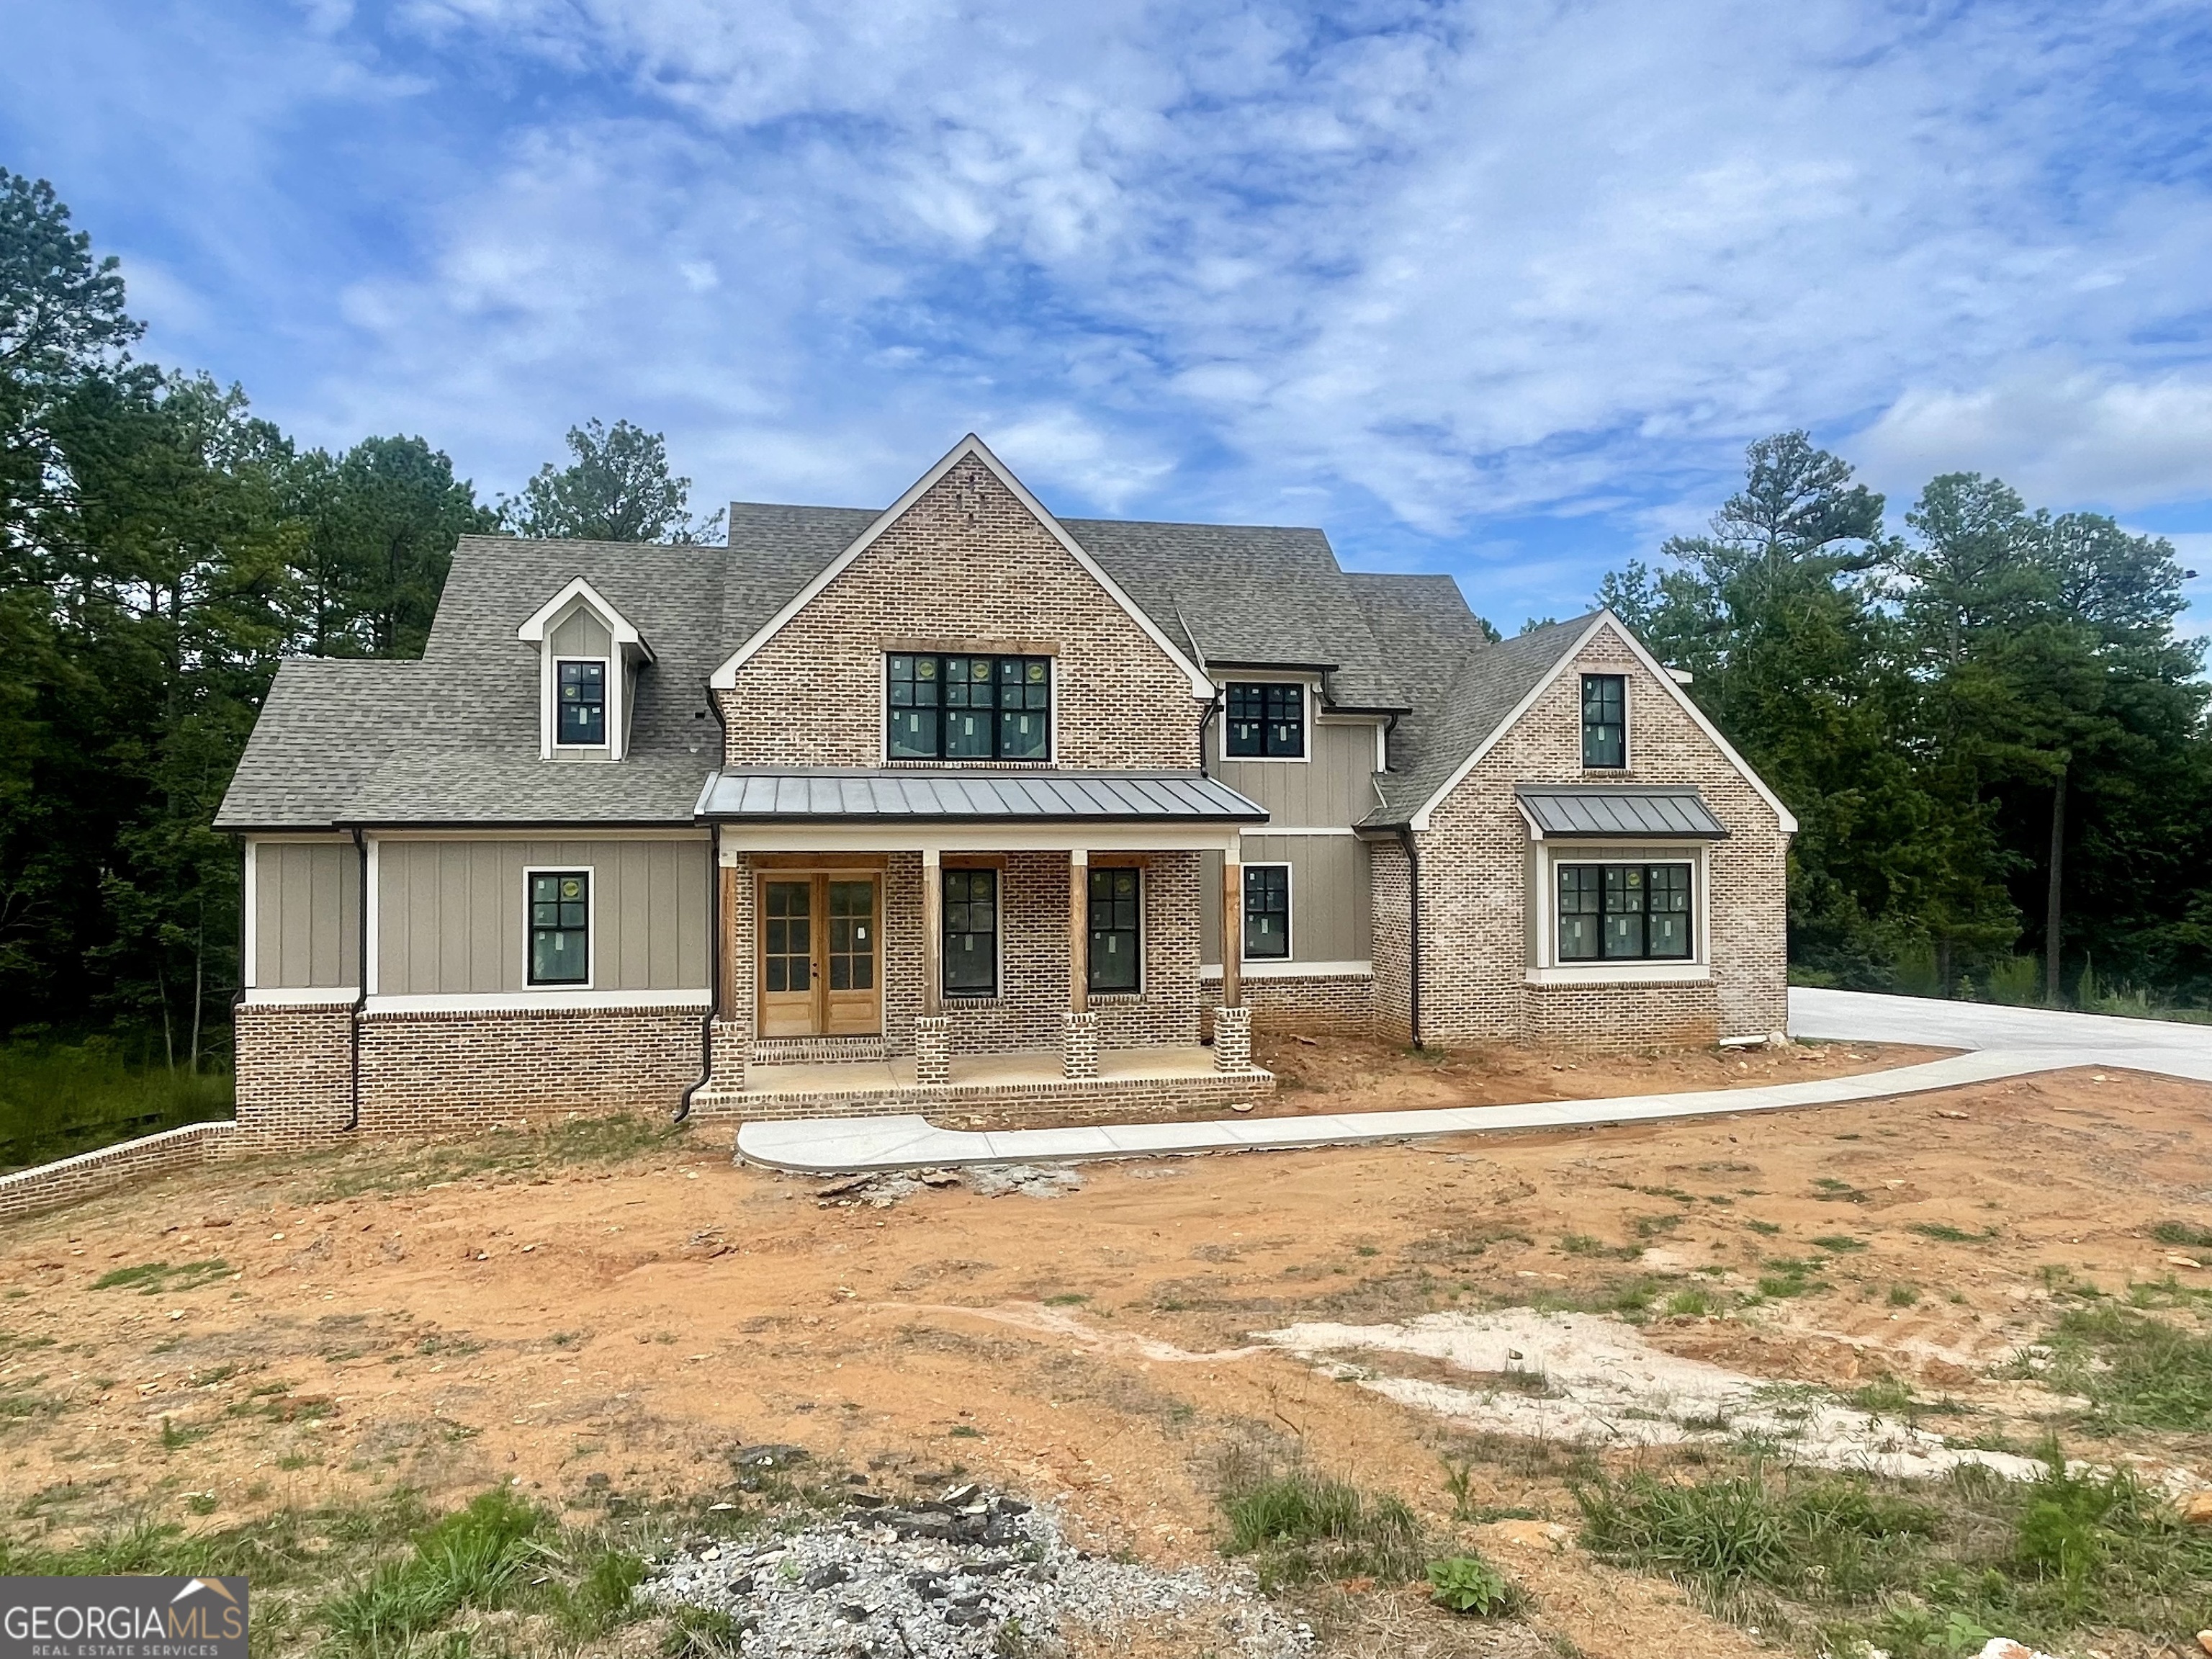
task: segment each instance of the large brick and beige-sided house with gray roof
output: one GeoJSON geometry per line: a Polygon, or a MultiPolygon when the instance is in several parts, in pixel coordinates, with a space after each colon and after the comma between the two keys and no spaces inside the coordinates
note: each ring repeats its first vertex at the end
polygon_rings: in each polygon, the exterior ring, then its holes
{"type": "Polygon", "coordinates": [[[1048,513],[978,440],[730,544],[462,538],[283,664],[241,1124],[1121,1115],[1398,1042],[1783,1029],[1790,812],[1604,611],[1489,641],[1312,529],[1048,513]]]}

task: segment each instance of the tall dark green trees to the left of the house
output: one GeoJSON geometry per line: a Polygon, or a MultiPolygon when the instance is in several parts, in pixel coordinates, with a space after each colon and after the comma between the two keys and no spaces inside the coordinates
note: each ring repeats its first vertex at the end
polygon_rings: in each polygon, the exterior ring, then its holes
{"type": "Polygon", "coordinates": [[[482,502],[418,436],[303,447],[133,356],[113,257],[0,168],[0,1029],[219,1048],[239,849],[210,821],[285,655],[416,657],[467,531],[708,540],[659,434],[568,431],[482,502]]]}

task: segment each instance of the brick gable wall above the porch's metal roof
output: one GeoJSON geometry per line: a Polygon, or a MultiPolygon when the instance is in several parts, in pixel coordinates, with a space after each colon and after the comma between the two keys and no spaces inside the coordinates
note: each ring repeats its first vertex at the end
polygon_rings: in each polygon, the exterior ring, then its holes
{"type": "Polygon", "coordinates": [[[1183,670],[969,456],[714,692],[726,763],[883,765],[883,655],[933,641],[1053,657],[1055,765],[1199,761],[1183,670]]]}

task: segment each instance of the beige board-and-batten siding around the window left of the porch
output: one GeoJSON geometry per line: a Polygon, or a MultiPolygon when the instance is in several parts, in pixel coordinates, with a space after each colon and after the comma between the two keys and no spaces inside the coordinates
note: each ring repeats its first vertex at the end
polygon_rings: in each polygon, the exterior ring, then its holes
{"type": "Polygon", "coordinates": [[[383,841],[380,995],[529,991],[526,869],[588,869],[595,991],[708,989],[708,843],[383,841]]]}

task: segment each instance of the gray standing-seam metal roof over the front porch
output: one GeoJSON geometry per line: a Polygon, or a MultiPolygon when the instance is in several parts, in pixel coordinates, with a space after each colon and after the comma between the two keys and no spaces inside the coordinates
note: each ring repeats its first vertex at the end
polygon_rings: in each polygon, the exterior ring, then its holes
{"type": "Polygon", "coordinates": [[[1197,772],[728,770],[699,792],[719,823],[1265,823],[1197,772]]]}

